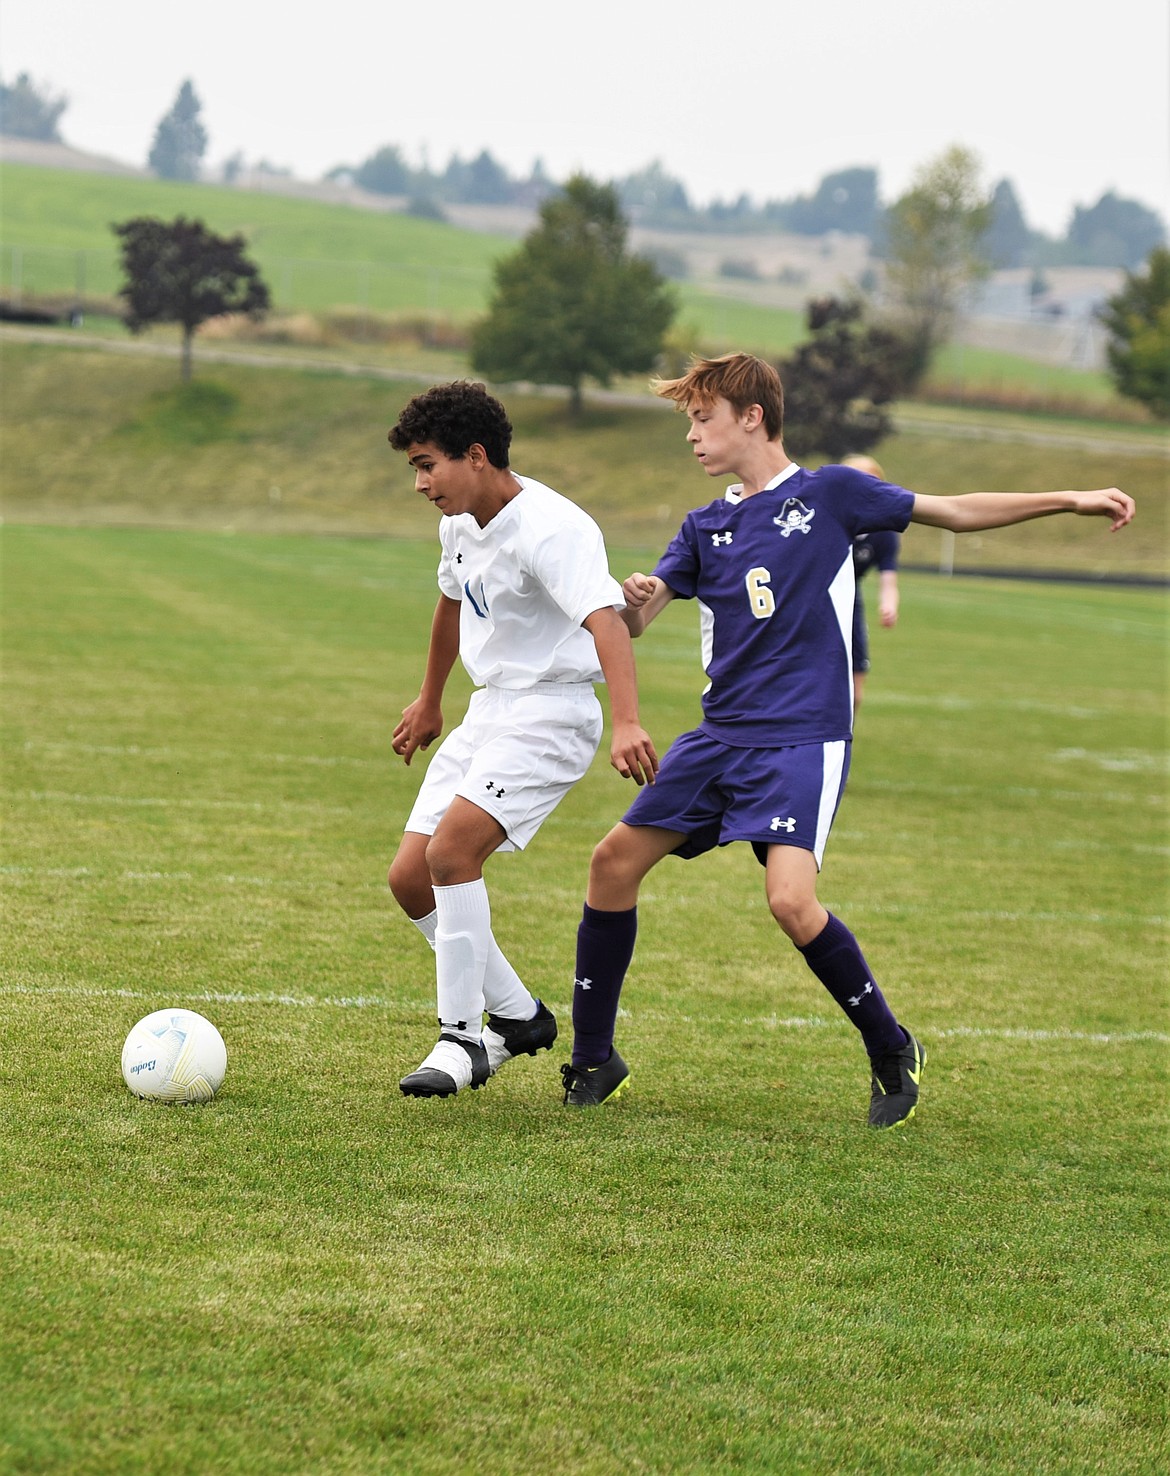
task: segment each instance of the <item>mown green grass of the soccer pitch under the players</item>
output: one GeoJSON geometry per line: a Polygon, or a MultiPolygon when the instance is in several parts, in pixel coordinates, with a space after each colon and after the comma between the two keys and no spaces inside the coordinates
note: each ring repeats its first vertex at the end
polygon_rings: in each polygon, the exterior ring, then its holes
{"type": "MultiPolygon", "coordinates": [[[[589,850],[630,797],[602,759],[488,866],[565,1038],[398,1095],[434,995],[384,886],[419,778],[390,732],[434,562],[3,531],[0,1467],[1161,1470],[1163,596],[909,574],[873,632],[822,894],[931,1054],[885,1137],[742,847],[648,880],[633,1089],[561,1107],[589,850]],[[227,1041],[205,1108],[121,1083],[165,1004],[227,1041]]],[[[639,646],[662,745],[693,617],[639,646]]]]}

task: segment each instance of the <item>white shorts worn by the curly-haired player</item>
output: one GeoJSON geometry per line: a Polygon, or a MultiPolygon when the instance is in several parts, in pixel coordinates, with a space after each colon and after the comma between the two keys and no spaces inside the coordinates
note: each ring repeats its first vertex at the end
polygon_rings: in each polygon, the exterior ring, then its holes
{"type": "Polygon", "coordinates": [[[428,765],[406,830],[434,835],[459,794],[500,822],[500,850],[524,850],[589,769],[603,726],[590,682],[472,692],[428,765]]]}

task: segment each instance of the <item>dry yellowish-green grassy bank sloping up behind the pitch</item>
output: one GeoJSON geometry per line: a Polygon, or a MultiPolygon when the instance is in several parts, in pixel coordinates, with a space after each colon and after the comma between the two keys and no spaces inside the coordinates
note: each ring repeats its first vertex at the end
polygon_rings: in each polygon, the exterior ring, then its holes
{"type": "MultiPolygon", "coordinates": [[[[0,350],[9,518],[431,534],[432,514],[387,446],[416,382],[201,363],[196,348],[184,391],[168,362],[12,339],[0,350]]],[[[562,397],[506,400],[516,465],[584,503],[611,539],[664,546],[688,508],[719,492],[662,401],[595,396],[574,424],[562,397]]],[[[893,480],[921,492],[1117,484],[1138,499],[1138,520],[1117,537],[1096,523],[1043,520],[960,539],[962,568],[1170,571],[1164,441],[1142,430],[960,410],[922,418],[913,407],[906,432],[878,455],[893,480]]],[[[904,558],[937,567],[938,533],[912,528],[904,558]]]]}

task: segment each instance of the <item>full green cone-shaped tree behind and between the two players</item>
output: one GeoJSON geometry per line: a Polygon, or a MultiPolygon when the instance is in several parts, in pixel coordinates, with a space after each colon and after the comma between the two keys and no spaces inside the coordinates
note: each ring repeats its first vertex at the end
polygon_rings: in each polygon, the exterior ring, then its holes
{"type": "Polygon", "coordinates": [[[626,249],[612,184],[574,176],[540,207],[539,224],[496,266],[487,317],[472,338],[477,373],[562,384],[574,415],[586,378],[654,366],[674,317],[657,267],[626,249]]]}

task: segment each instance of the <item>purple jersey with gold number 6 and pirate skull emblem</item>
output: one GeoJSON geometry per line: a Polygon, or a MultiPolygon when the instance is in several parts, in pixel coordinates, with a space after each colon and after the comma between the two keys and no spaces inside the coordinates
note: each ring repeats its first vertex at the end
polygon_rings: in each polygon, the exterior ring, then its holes
{"type": "Polygon", "coordinates": [[[654,573],[699,602],[702,732],[738,748],[851,737],[853,540],[912,511],[912,492],[851,466],[789,466],[686,515],[654,573]]]}

